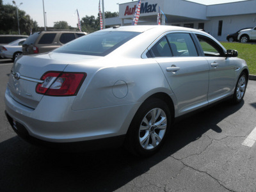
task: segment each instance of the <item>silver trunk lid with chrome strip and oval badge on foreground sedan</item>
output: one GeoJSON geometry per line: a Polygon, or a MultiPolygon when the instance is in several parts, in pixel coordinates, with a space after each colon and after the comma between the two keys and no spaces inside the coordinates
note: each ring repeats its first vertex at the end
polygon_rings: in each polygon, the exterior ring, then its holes
{"type": "Polygon", "coordinates": [[[36,93],[36,85],[43,82],[40,78],[45,72],[62,72],[68,64],[82,59],[85,58],[61,53],[22,56],[15,61],[10,74],[8,88],[11,97],[20,104],[35,109],[44,96],[36,93]]]}

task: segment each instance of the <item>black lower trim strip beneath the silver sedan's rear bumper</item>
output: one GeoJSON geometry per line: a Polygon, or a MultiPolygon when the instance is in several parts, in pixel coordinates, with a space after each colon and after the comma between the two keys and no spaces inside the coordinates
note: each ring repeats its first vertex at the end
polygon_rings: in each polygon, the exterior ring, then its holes
{"type": "Polygon", "coordinates": [[[75,141],[68,143],[44,141],[29,135],[29,132],[24,125],[20,124],[19,122],[13,121],[13,118],[10,115],[8,115],[6,111],[4,112],[10,125],[12,125],[13,131],[15,131],[18,134],[18,136],[22,138],[22,140],[39,147],[52,148],[54,150],[61,150],[65,152],[84,152],[90,150],[98,150],[102,148],[122,147],[125,140],[125,135],[121,135],[97,140],[75,141]]]}

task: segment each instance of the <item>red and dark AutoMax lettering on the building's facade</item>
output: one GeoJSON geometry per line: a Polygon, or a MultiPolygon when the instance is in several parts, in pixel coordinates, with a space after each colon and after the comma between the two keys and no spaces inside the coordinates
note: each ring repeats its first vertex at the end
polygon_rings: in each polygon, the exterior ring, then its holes
{"type": "MultiPolygon", "coordinates": [[[[141,3],[140,13],[156,12],[156,6],[157,6],[157,3],[156,4],[148,4],[148,2],[141,3]]],[[[135,10],[136,10],[136,4],[132,8],[130,8],[129,5],[127,5],[125,8],[124,16],[134,15],[135,10]]]]}

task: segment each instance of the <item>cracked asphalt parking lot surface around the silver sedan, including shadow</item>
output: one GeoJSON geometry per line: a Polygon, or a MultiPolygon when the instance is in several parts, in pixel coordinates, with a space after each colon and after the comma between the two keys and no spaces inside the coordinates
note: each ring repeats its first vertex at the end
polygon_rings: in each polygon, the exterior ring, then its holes
{"type": "Polygon", "coordinates": [[[122,148],[61,153],[20,140],[4,116],[11,67],[0,60],[0,191],[256,191],[256,81],[244,102],[178,122],[162,150],[141,159],[122,148]]]}

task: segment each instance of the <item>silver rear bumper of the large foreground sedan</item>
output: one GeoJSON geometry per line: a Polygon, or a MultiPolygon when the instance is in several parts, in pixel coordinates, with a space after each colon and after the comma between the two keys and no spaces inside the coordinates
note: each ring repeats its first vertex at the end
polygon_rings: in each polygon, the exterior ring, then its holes
{"type": "Polygon", "coordinates": [[[65,145],[105,140],[108,146],[111,144],[109,140],[121,140],[124,137],[140,106],[140,103],[135,103],[74,111],[71,109],[73,99],[43,97],[36,109],[31,109],[14,100],[7,88],[6,114],[14,131],[30,143],[39,140],[65,145]],[[15,129],[13,120],[19,129],[15,129]]]}

